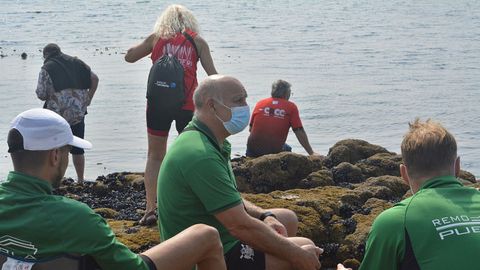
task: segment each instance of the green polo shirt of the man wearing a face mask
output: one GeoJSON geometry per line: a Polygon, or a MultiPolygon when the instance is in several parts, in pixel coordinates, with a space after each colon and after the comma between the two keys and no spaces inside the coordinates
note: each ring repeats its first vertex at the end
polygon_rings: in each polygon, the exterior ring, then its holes
{"type": "Polygon", "coordinates": [[[177,137],[158,175],[158,215],[162,240],[198,223],[215,227],[224,252],[236,243],[215,214],[242,203],[230,165],[230,143],[218,145],[212,132],[193,118],[177,137]]]}

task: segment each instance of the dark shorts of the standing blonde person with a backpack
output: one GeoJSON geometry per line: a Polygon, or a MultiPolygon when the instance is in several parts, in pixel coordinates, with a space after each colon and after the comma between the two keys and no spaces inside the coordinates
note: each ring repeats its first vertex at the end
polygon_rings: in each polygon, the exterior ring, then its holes
{"type": "Polygon", "coordinates": [[[174,120],[177,131],[180,133],[193,117],[193,111],[178,110],[169,112],[160,111],[152,107],[155,106],[147,106],[147,128],[148,133],[155,136],[167,137],[174,120]]]}

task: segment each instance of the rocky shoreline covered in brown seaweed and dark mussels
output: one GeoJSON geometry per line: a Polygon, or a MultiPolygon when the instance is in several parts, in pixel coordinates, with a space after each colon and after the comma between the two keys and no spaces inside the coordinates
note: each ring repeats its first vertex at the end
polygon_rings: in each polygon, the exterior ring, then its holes
{"type": "MultiPolygon", "coordinates": [[[[263,208],[285,207],[298,215],[299,235],[324,249],[324,267],[356,269],[375,217],[410,195],[399,177],[401,157],[362,140],[342,140],[323,157],[280,153],[236,158],[232,167],[243,196],[263,208]]],[[[479,187],[462,171],[460,181],[479,187]]],[[[96,182],[63,181],[56,194],[82,201],[105,217],[119,239],[136,252],[159,243],[156,226],[138,226],[145,206],[143,175],[113,173],[96,182]]]]}

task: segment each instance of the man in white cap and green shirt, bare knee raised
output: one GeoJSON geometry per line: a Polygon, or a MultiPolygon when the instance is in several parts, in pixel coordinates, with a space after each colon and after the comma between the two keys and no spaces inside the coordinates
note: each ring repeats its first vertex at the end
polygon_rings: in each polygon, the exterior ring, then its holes
{"type": "Polygon", "coordinates": [[[7,142],[14,171],[0,185],[1,269],[226,269],[218,231],[210,226],[186,228],[138,255],[87,205],[52,195],[70,148],[91,147],[55,112],[19,114],[7,142]]]}

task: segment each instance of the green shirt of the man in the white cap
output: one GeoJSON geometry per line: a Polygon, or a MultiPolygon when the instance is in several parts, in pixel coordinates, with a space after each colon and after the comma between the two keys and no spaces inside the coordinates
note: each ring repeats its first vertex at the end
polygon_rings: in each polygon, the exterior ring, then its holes
{"type": "Polygon", "coordinates": [[[86,204],[52,195],[47,181],[10,172],[0,184],[0,252],[42,260],[90,255],[102,269],[148,269],[86,204]]]}

